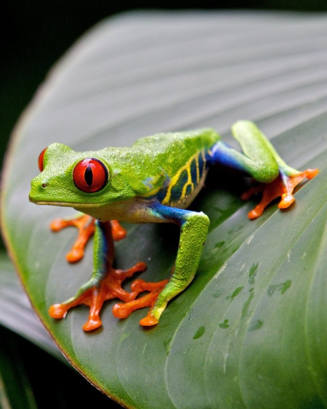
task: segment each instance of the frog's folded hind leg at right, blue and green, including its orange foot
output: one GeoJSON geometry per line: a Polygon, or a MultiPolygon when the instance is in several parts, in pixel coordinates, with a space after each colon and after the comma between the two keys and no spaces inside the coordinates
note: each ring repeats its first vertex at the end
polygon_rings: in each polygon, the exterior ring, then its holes
{"type": "Polygon", "coordinates": [[[277,197],[281,197],[279,208],[289,207],[294,201],[294,188],[303,179],[312,179],[319,172],[318,169],[299,172],[288,166],[253,122],[238,121],[232,126],[231,131],[243,153],[218,141],[212,148],[211,161],[214,164],[219,163],[238,169],[260,183],[242,195],[243,199],[248,199],[253,193],[262,192],[260,203],[248,214],[250,219],[259,217],[277,197]]]}

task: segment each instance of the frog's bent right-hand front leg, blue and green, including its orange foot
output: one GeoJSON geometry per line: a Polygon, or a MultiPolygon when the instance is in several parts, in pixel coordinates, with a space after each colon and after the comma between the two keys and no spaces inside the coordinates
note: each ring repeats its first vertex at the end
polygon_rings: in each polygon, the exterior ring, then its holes
{"type": "MultiPolygon", "coordinates": [[[[115,316],[124,318],[135,309],[146,306],[151,307],[147,316],[139,322],[143,326],[157,324],[168,302],[183,291],[193,280],[209,226],[209,218],[202,212],[171,208],[158,202],[152,203],[149,212],[158,222],[178,224],[180,226],[180,239],[173,274],[166,286],[162,290],[157,289],[156,294],[152,292],[152,296],[147,294],[129,303],[116,304],[113,308],[115,316]],[[147,297],[149,300],[146,299],[147,297]]],[[[141,292],[141,288],[150,291],[152,284],[137,283],[140,287],[138,291],[141,292]]]]}

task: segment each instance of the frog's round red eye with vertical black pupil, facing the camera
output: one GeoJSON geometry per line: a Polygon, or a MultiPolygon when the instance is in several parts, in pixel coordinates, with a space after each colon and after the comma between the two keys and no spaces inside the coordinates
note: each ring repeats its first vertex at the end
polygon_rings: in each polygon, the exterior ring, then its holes
{"type": "Polygon", "coordinates": [[[103,189],[108,181],[108,170],[94,157],[86,157],[73,170],[75,186],[85,193],[95,193],[103,189]]]}

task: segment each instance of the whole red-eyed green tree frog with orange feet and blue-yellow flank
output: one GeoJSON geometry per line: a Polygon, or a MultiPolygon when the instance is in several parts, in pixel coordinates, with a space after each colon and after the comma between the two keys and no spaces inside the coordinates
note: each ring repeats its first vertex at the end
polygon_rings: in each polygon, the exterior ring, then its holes
{"type": "Polygon", "coordinates": [[[114,306],[115,316],[126,317],[137,308],[150,306],[140,324],[157,324],[167,303],[191,283],[199,264],[209,219],[202,212],[185,209],[203,187],[209,167],[224,165],[261,183],[243,195],[248,198],[254,192],[263,192],[249,218],[260,216],[268,203],[279,196],[279,208],[290,206],[294,187],[303,178],[310,179],[318,173],[317,169],[299,172],[286,165],[252,122],[239,121],[231,130],[243,153],[223,143],[213,129],[156,134],[138,140],[130,148],[74,152],[55,143],[42,152],[41,173],[32,180],[30,200],[38,205],[72,207],[88,215],[57,220],[52,226],[53,230],[60,230],[76,225],[80,230],[78,241],[68,254],[69,261],[83,256],[87,240],[95,233],[94,272],[75,297],[50,308],[53,317],[61,318],[69,308],[84,303],[90,306],[90,313],[83,328],[92,330],[101,325],[103,302],[119,298],[123,303],[114,306]],[[112,240],[125,236],[114,220],[176,223],[180,227],[170,280],[136,280],[131,292],[121,287],[126,277],[143,271],[146,265],[137,263],[126,271],[112,268],[112,240]],[[145,290],[149,293],[136,299],[145,290]]]}

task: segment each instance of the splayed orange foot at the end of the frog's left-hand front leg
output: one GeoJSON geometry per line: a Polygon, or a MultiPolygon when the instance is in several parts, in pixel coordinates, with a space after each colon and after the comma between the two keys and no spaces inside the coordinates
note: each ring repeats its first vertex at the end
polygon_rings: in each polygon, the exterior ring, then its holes
{"type": "MultiPolygon", "coordinates": [[[[124,303],[132,301],[138,291],[128,292],[122,288],[124,280],[132,277],[136,272],[142,272],[147,268],[143,262],[135,264],[128,270],[118,270],[110,268],[106,276],[102,279],[92,277],[84,284],[75,297],[65,301],[62,304],[53,304],[49,308],[49,314],[56,319],[64,318],[68,310],[80,304],[87,305],[89,316],[87,322],[83,325],[84,331],[92,331],[99,328],[102,324],[100,311],[105,301],[118,298],[124,303]]],[[[138,280],[135,280],[138,281],[138,280]]]]}

